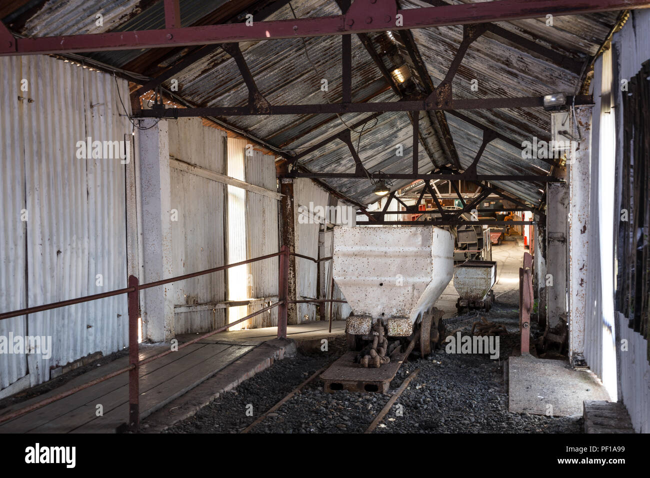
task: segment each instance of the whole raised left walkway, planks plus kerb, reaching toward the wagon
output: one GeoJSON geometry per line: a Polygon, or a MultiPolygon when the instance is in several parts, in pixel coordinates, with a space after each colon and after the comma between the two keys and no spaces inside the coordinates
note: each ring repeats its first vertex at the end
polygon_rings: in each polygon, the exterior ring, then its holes
{"type": "MultiPolygon", "coordinates": [[[[296,345],[291,338],[297,338],[298,343],[315,340],[320,343],[322,338],[344,334],[344,330],[344,321],[333,322],[331,333],[327,322],[311,322],[290,325],[288,341],[278,340],[277,328],[268,327],[214,334],[188,345],[140,367],[140,419],[144,420],[161,410],[161,414],[152,416],[148,422],[151,429],[163,429],[164,424],[173,423],[169,419],[170,408],[174,408],[175,421],[187,418],[205,405],[206,400],[209,402],[219,393],[270,367],[274,360],[294,354],[296,345]],[[203,388],[196,390],[208,380],[203,388]],[[164,419],[161,418],[163,416],[164,419]]],[[[194,337],[196,334],[187,334],[177,339],[183,342],[194,337]]],[[[167,351],[169,347],[169,344],[142,344],[140,360],[167,351]]],[[[122,369],[128,363],[128,358],[122,357],[96,367],[38,397],[3,408],[0,417],[122,369]]],[[[0,423],[0,433],[114,433],[128,416],[128,383],[127,373],[109,378],[16,419],[0,423]],[[103,409],[102,416],[97,416],[98,405],[103,409]]]]}

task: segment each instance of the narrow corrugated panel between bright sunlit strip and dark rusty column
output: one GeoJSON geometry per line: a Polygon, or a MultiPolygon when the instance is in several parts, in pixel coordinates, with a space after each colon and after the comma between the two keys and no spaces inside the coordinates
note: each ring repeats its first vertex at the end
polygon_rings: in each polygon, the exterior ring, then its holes
{"type": "MultiPolygon", "coordinates": [[[[246,182],[269,191],[278,191],[275,158],[272,155],[253,150],[252,156],[246,156],[244,159],[246,182]]],[[[246,230],[248,259],[278,252],[278,200],[246,191],[246,230]]],[[[278,258],[250,263],[248,272],[250,273],[248,297],[268,299],[263,304],[249,306],[248,313],[253,313],[278,297],[278,258]]],[[[278,325],[278,309],[273,308],[256,315],[247,321],[247,324],[250,328],[278,325]]]]}

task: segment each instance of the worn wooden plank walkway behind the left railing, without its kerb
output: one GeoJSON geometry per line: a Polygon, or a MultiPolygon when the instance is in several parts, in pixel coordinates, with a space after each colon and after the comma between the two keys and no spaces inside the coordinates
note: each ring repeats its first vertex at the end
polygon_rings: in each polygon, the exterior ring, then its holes
{"type": "MultiPolygon", "coordinates": [[[[146,347],[140,351],[140,360],[168,350],[168,347],[168,345],[146,347]]],[[[194,343],[178,352],[143,365],[140,367],[141,417],[144,418],[155,412],[253,348],[252,345],[194,343]]],[[[1,410],[0,416],[41,401],[55,393],[70,390],[70,388],[107,375],[126,365],[128,365],[127,357],[114,360],[110,364],[73,378],[51,392],[7,407],[1,410]]],[[[0,424],[0,433],[115,432],[116,427],[127,419],[128,384],[128,374],[123,373],[2,423],[0,424]],[[103,416],[101,417],[96,416],[97,405],[103,406],[103,416]]]]}

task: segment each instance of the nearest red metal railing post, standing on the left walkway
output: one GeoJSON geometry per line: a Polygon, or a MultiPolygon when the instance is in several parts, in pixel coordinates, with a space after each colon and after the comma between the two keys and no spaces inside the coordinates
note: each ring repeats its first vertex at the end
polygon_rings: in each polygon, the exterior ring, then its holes
{"type": "Polygon", "coordinates": [[[140,319],[140,290],[138,278],[129,276],[129,365],[133,368],[129,371],[129,429],[138,431],[140,428],[140,376],[138,371],[139,346],[138,346],[138,320],[140,319]]]}

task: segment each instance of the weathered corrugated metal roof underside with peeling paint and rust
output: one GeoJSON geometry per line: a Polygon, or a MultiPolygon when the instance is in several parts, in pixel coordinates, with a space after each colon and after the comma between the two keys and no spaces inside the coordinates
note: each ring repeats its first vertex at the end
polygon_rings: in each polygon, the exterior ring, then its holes
{"type": "MultiPolygon", "coordinates": [[[[447,0],[452,3],[452,0],[447,0]]],[[[474,0],[462,0],[472,3],[474,0]]],[[[242,1],[240,14],[265,6],[265,1],[242,1]]],[[[434,2],[435,3],[435,2],[434,2]]],[[[453,3],[460,3],[454,1],[453,3]]],[[[398,2],[400,8],[428,7],[430,3],[420,0],[398,2]]],[[[296,16],[315,17],[340,14],[333,0],[292,1],[296,16]]],[[[181,0],[183,26],[195,25],[208,18],[235,16],[233,3],[224,0],[181,0]],[[227,10],[227,14],[226,14],[227,10]]],[[[590,61],[616,23],[618,12],[586,14],[553,18],[548,26],[546,19],[498,22],[497,25],[527,40],[548,47],[582,64],[590,61]]],[[[289,6],[280,8],[267,20],[293,18],[289,6]]],[[[92,0],[79,6],[72,0],[31,1],[10,14],[5,20],[25,35],[98,33],[99,31],[124,31],[161,28],[164,26],[162,2],[151,0],[92,0]],[[103,27],[94,23],[96,13],[104,16],[103,27]]],[[[440,27],[411,31],[428,73],[438,85],[445,77],[462,39],[462,27],[440,27]]],[[[352,96],[354,101],[397,101],[398,95],[389,89],[379,68],[374,64],[356,35],[352,36],[352,96]]],[[[341,99],[341,37],[318,37],[305,39],[310,59],[305,55],[302,40],[292,38],[240,44],[246,62],[257,86],[274,105],[337,102],[341,99]],[[311,63],[313,61],[313,64],[311,63]],[[317,70],[317,71],[315,71],[317,70]],[[317,73],[318,72],[318,73],[317,73]],[[328,92],[320,90],[321,79],[328,80],[328,92]]],[[[187,49],[166,49],[167,55],[179,55],[187,49]]],[[[381,53],[381,52],[380,52],[381,53]]],[[[111,66],[123,67],[136,64],[140,59],[148,66],[138,64],[140,73],[155,71],[162,64],[160,57],[151,56],[151,50],[111,51],[89,54],[111,66]]],[[[167,59],[168,61],[169,59],[167,59]]],[[[221,49],[196,62],[176,76],[179,96],[197,106],[236,106],[248,101],[248,90],[231,57],[221,49]]],[[[536,96],[551,92],[578,92],[582,77],[567,70],[539,53],[528,51],[520,44],[505,40],[493,33],[486,33],[476,40],[467,51],[454,77],[454,98],[493,98],[536,96]],[[478,79],[478,91],[470,88],[471,80],[478,79]]],[[[167,85],[168,86],[168,85],[167,85]]],[[[521,143],[536,136],[548,139],[550,114],[540,108],[497,109],[463,111],[463,114],[521,143]]],[[[348,122],[367,114],[344,114],[348,122]]],[[[478,146],[481,133],[476,127],[447,114],[461,166],[467,167],[478,146]]],[[[287,116],[238,116],[226,118],[234,127],[248,131],[273,146],[294,152],[344,129],[341,120],[327,115],[287,116]]],[[[370,122],[368,126],[372,126],[370,122]]],[[[421,122],[421,126],[422,122],[421,122]]],[[[422,131],[424,136],[435,135],[432,128],[422,131]]],[[[357,133],[352,133],[356,144],[357,133]]],[[[406,113],[386,113],[379,117],[376,126],[366,128],[361,139],[361,159],[370,172],[409,172],[411,150],[411,126],[406,113]],[[396,144],[404,144],[404,157],[395,155],[396,144]]],[[[420,148],[421,172],[432,170],[432,161],[420,148]]],[[[445,156],[439,148],[434,152],[445,156]]],[[[434,158],[435,159],[435,158],[434,158]]],[[[445,163],[446,161],[439,161],[445,163]]],[[[334,141],[318,151],[307,155],[301,164],[315,172],[354,172],[354,161],[347,147],[334,141]]],[[[513,146],[495,140],[486,148],[478,171],[484,174],[520,172],[540,174],[539,168],[548,166],[533,161],[523,161],[521,152],[513,146]]],[[[372,183],[368,180],[326,180],[331,187],[359,202],[374,201],[372,183]]],[[[401,187],[408,183],[395,183],[401,187]]],[[[497,184],[497,183],[495,183],[497,184]]],[[[521,199],[538,204],[543,185],[499,183],[499,187],[521,199]]]]}

